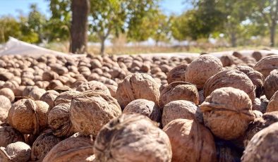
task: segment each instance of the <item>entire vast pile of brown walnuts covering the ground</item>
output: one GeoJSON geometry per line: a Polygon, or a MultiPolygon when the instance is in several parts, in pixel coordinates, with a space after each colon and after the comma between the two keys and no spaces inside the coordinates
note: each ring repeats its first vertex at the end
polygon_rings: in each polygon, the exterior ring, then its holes
{"type": "Polygon", "coordinates": [[[0,161],[278,161],[278,56],[1,56],[0,161]]]}

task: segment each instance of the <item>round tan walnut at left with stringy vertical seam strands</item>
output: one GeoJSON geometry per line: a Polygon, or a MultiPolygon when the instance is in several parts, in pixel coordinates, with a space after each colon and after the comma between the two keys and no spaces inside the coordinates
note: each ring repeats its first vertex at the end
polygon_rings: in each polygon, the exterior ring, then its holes
{"type": "Polygon", "coordinates": [[[44,101],[21,99],[8,111],[8,123],[23,134],[37,135],[48,125],[48,108],[44,101]]]}

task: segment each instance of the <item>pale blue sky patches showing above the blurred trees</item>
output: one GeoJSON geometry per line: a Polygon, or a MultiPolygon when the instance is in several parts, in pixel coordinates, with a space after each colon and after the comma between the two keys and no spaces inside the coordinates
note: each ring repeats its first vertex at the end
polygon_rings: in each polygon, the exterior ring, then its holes
{"type": "MultiPolygon", "coordinates": [[[[160,8],[167,15],[179,14],[191,7],[184,4],[183,1],[185,0],[161,0],[160,8]]],[[[30,11],[30,4],[37,4],[42,13],[50,15],[49,1],[47,0],[0,0],[0,16],[17,16],[20,12],[27,14],[30,11]]]]}

